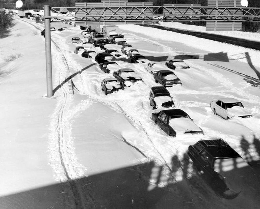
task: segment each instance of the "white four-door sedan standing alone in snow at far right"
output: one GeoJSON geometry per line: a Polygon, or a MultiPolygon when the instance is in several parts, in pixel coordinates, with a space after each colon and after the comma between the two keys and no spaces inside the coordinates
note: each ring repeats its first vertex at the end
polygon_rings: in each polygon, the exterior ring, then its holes
{"type": "Polygon", "coordinates": [[[224,119],[230,119],[234,116],[241,118],[252,117],[252,114],[244,109],[241,101],[234,98],[220,98],[210,102],[210,107],[214,115],[219,115],[224,119]]]}

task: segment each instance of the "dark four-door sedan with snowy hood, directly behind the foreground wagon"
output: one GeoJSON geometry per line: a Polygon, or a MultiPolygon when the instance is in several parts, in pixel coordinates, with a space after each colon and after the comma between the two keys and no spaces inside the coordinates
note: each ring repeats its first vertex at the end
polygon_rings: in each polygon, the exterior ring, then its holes
{"type": "Polygon", "coordinates": [[[203,134],[190,116],[180,109],[162,110],[152,113],[152,121],[166,134],[175,137],[176,134],[203,134]]]}

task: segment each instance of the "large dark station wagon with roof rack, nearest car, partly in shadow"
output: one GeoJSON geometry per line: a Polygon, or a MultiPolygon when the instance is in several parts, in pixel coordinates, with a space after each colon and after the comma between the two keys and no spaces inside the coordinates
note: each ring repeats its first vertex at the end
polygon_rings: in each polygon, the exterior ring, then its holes
{"type": "Polygon", "coordinates": [[[209,181],[215,182],[212,187],[219,187],[218,192],[227,199],[237,197],[242,182],[246,184],[246,178],[253,174],[249,164],[222,138],[199,140],[189,146],[188,155],[198,171],[213,179],[209,181]]]}

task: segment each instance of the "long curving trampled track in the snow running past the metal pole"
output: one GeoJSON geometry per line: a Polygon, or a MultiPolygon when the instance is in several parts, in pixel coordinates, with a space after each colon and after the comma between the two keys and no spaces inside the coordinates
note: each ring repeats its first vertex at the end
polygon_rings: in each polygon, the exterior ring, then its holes
{"type": "MultiPolygon", "coordinates": [[[[32,26],[33,24],[24,21],[32,26]]],[[[34,26],[36,29],[41,30],[40,28],[34,26]]],[[[69,66],[67,63],[67,60],[62,53],[60,47],[56,44],[56,42],[51,39],[51,42],[54,44],[57,55],[56,55],[56,61],[59,67],[59,83],[62,84],[64,81],[63,79],[66,78],[67,73],[69,72],[69,66]],[[62,63],[59,63],[59,61],[62,60],[62,63]],[[62,66],[63,65],[63,66],[62,66]],[[65,67],[65,69],[64,69],[65,67]]],[[[68,131],[68,118],[66,117],[66,111],[68,109],[69,104],[72,102],[72,84],[71,80],[67,81],[69,85],[64,86],[60,85],[60,89],[62,92],[62,96],[60,96],[59,101],[57,102],[56,109],[52,115],[52,121],[51,121],[51,134],[49,135],[49,149],[51,151],[50,154],[50,160],[51,160],[51,166],[54,169],[54,172],[58,176],[59,181],[68,181],[72,193],[74,195],[74,201],[76,208],[86,208],[85,206],[88,205],[88,207],[93,207],[93,201],[94,199],[88,193],[87,202],[85,200],[86,195],[82,194],[80,186],[75,181],[76,178],[81,177],[83,174],[83,168],[82,166],[77,162],[76,155],[74,153],[74,146],[73,141],[70,137],[70,132],[68,131]],[[56,119],[57,118],[57,119],[56,119]],[[58,146],[57,144],[58,143],[58,146]],[[59,159],[60,164],[56,164],[55,162],[57,159],[57,149],[59,153],[59,159]],[[53,153],[54,152],[54,153],[53,153]],[[54,159],[52,159],[54,157],[54,159]],[[54,164],[52,164],[54,160],[54,164]],[[63,176],[63,174],[65,176],[63,176]],[[64,178],[65,177],[65,178],[64,178]]]]}

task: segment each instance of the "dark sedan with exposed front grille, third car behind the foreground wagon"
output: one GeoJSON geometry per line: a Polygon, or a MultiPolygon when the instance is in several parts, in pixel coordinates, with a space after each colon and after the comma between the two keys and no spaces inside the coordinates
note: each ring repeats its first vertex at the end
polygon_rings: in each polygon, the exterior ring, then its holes
{"type": "Polygon", "coordinates": [[[153,75],[155,83],[160,83],[164,87],[171,87],[181,84],[180,79],[170,70],[160,70],[153,75]]]}

